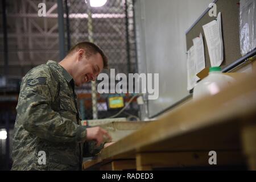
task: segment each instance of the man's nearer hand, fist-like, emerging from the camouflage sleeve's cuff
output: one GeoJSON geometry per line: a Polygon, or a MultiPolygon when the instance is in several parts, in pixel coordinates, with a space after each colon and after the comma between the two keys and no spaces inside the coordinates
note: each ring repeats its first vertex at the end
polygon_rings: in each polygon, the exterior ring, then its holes
{"type": "Polygon", "coordinates": [[[96,146],[100,146],[102,142],[110,142],[112,138],[108,132],[101,127],[90,127],[87,130],[87,140],[96,140],[96,146]]]}

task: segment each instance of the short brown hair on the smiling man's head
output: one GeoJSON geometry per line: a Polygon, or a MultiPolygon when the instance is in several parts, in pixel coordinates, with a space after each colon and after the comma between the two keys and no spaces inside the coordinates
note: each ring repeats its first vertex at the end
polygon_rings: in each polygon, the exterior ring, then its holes
{"type": "Polygon", "coordinates": [[[69,51],[68,55],[73,53],[74,51],[78,51],[78,49],[85,49],[86,57],[90,57],[96,53],[100,53],[103,60],[103,68],[108,68],[108,57],[106,57],[105,53],[102,51],[100,47],[91,42],[80,42],[73,46],[69,51]]]}

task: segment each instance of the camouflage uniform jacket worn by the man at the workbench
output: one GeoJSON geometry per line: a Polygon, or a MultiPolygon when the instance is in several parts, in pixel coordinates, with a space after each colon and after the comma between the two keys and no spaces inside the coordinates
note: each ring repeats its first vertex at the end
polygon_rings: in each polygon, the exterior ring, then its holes
{"type": "Polygon", "coordinates": [[[74,87],[71,75],[51,60],[23,77],[16,106],[12,170],[81,169],[86,127],[81,126],[74,87]]]}

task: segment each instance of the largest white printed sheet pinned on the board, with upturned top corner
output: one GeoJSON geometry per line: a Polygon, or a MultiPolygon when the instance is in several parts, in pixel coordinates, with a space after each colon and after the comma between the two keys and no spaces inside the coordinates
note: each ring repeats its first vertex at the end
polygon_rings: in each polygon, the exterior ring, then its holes
{"type": "Polygon", "coordinates": [[[219,67],[224,59],[221,32],[221,13],[218,13],[216,20],[205,24],[203,29],[210,56],[210,65],[212,67],[219,67]]]}

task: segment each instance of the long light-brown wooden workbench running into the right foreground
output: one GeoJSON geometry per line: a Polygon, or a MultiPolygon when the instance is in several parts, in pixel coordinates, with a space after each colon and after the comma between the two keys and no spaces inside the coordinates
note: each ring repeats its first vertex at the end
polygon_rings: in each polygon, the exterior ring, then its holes
{"type": "Polygon", "coordinates": [[[84,169],[151,170],[245,164],[256,169],[256,74],[215,96],[188,101],[104,148],[84,169]]]}

